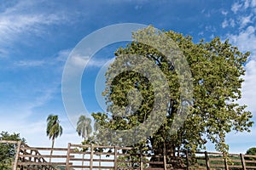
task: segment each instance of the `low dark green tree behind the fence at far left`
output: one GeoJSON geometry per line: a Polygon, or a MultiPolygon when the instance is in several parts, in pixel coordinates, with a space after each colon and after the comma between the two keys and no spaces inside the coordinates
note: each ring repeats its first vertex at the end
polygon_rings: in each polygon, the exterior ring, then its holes
{"type": "MultiPolygon", "coordinates": [[[[0,133],[0,140],[21,141],[26,143],[26,139],[20,138],[20,133],[10,134],[8,132],[0,133]]],[[[16,144],[0,144],[0,169],[12,169],[11,162],[15,159],[16,144]]]]}

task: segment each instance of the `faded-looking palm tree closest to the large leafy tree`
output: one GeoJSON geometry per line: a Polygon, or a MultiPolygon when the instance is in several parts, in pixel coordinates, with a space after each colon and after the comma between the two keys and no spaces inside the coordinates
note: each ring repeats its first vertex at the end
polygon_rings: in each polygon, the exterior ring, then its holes
{"type": "MultiPolygon", "coordinates": [[[[84,142],[86,141],[86,139],[88,138],[89,134],[92,131],[90,123],[91,123],[91,120],[89,117],[86,117],[84,115],[79,116],[79,121],[77,122],[77,132],[79,133],[79,136],[82,136],[82,138],[84,138],[84,142]]],[[[83,154],[82,166],[84,166],[84,154],[83,154]]]]}

